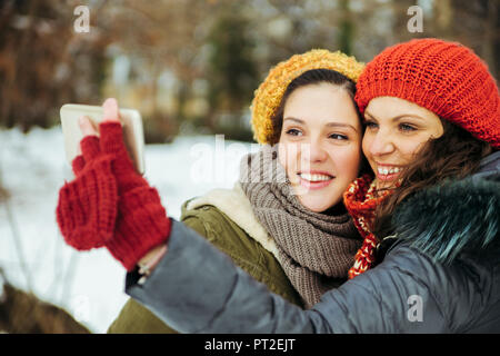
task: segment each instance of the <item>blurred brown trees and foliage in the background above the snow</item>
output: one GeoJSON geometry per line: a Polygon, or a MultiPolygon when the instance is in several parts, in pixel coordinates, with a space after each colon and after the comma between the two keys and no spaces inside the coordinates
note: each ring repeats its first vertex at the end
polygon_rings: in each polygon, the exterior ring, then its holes
{"type": "Polygon", "coordinates": [[[269,69],[311,48],[369,61],[416,37],[473,48],[500,70],[499,0],[3,0],[0,127],[59,123],[67,102],[118,98],[144,119],[147,142],[182,134],[251,140],[249,106],[269,69]],[[77,33],[76,7],[90,31],[77,33]],[[423,32],[411,33],[411,6],[423,32]]]}

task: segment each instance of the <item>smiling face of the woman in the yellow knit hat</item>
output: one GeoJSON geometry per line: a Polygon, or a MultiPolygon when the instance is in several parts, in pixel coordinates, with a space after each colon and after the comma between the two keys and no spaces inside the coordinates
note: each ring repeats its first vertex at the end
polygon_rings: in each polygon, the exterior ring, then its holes
{"type": "Polygon", "coordinates": [[[361,123],[346,89],[327,82],[296,89],[287,99],[279,160],[308,209],[337,205],[358,176],[361,123]]]}

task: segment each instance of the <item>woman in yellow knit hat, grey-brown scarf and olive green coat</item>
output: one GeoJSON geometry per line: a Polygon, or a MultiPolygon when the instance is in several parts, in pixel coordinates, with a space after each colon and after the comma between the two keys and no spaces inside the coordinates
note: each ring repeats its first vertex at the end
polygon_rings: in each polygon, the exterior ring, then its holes
{"type": "MultiPolygon", "coordinates": [[[[302,308],[347,280],[362,243],[342,194],[362,166],[353,97],[363,68],[353,57],[321,49],[272,68],[251,106],[261,149],[242,159],[233,189],[182,206],[184,225],[302,308]]],[[[130,299],[109,332],[174,330],[130,299]]]]}

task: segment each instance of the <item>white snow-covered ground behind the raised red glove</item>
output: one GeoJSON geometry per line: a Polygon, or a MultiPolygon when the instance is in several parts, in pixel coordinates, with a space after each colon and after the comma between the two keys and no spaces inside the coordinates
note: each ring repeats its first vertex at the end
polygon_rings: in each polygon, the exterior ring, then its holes
{"type": "MultiPolygon", "coordinates": [[[[240,158],[256,145],[220,136],[179,137],[146,147],[146,178],[158,188],[168,214],[212,188],[232,187],[240,158]]],[[[106,249],[77,253],[56,222],[59,188],[73,179],[60,127],[0,130],[0,268],[10,283],[69,310],[93,333],[106,333],[128,299],[124,269],[106,249]],[[14,237],[19,237],[16,239],[14,237]]]]}

